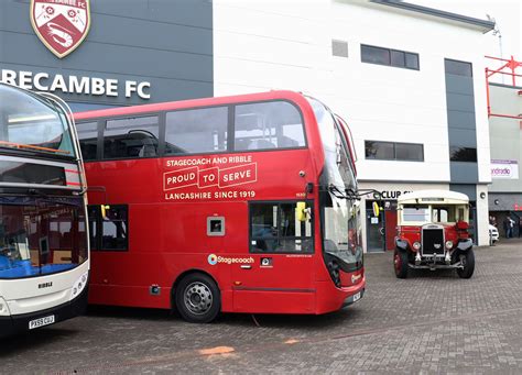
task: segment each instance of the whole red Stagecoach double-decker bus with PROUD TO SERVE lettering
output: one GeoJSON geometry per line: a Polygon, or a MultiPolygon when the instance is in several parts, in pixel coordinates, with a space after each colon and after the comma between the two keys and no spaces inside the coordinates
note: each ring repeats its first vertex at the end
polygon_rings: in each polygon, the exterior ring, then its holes
{"type": "Polygon", "coordinates": [[[75,120],[93,205],[90,304],[208,322],[362,297],[348,130],[318,100],[271,91],[75,120]]]}

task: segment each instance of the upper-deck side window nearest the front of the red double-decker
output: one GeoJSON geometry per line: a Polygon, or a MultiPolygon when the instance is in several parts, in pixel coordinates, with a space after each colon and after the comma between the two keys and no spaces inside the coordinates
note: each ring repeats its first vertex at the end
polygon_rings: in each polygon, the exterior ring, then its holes
{"type": "Polygon", "coordinates": [[[236,106],[235,151],[304,147],[301,113],[286,101],[236,106]]]}

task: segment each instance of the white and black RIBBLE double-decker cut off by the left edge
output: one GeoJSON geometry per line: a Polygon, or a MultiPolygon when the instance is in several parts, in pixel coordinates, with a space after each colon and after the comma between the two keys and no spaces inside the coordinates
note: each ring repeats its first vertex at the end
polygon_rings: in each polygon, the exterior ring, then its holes
{"type": "Polygon", "coordinates": [[[89,235],[87,186],[68,107],[52,95],[0,84],[0,125],[3,338],[84,312],[89,235]]]}

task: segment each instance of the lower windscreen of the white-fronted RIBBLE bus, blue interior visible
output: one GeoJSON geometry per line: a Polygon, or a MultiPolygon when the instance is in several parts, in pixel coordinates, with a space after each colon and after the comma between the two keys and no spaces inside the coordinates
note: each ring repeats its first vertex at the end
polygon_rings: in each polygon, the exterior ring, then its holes
{"type": "Polygon", "coordinates": [[[80,198],[0,197],[0,278],[42,276],[87,260],[80,198]]]}

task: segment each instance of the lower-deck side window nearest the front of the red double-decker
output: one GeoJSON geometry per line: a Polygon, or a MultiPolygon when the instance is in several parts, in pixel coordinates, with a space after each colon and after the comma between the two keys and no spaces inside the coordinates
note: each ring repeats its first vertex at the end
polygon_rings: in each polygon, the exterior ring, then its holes
{"type": "Polygon", "coordinates": [[[250,203],[250,252],[313,253],[312,207],[307,218],[297,220],[296,201],[250,203]]]}

